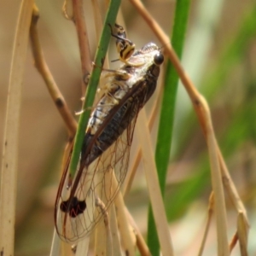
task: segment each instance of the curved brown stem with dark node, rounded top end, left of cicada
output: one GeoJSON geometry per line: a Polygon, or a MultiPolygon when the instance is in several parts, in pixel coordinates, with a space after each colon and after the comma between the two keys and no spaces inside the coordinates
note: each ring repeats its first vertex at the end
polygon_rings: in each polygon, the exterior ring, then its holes
{"type": "Polygon", "coordinates": [[[55,106],[59,110],[59,113],[61,114],[61,117],[64,120],[65,125],[67,126],[67,131],[70,138],[69,140],[72,141],[76,133],[77,122],[73,118],[73,114],[67,107],[67,102],[61,95],[61,91],[55,83],[55,79],[50,73],[49,67],[44,60],[43,51],[38,37],[38,18],[38,8],[34,6],[32,14],[32,23],[30,27],[30,38],[32,43],[32,53],[35,60],[35,67],[37,67],[38,72],[42,75],[44,82],[47,86],[47,89],[49,90],[49,94],[55,102],[55,106]]]}

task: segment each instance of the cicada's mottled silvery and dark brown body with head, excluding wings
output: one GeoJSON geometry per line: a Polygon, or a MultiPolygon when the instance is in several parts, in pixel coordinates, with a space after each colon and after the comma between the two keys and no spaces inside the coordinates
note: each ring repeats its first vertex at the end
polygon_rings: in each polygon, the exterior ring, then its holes
{"type": "Polygon", "coordinates": [[[96,138],[96,143],[90,149],[85,165],[89,165],[116,141],[135,118],[139,109],[143,108],[154,93],[160,73],[160,64],[163,61],[159,47],[153,43],[146,44],[143,49],[131,55],[129,61],[142,64],[139,67],[125,64],[117,70],[113,79],[110,80],[108,92],[102,96],[90,115],[82,154],[104,120],[109,118],[113,112],[113,118],[104,127],[102,133],[96,138]],[[119,109],[116,111],[114,107],[119,109]]]}

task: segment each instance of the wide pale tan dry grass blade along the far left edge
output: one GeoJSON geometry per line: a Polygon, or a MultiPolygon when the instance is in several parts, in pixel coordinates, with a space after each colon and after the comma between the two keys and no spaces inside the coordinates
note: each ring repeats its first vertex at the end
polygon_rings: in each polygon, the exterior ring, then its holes
{"type": "Polygon", "coordinates": [[[18,135],[21,85],[26,63],[29,26],[33,1],[22,1],[15,33],[15,44],[9,76],[9,94],[3,139],[3,161],[0,198],[1,255],[14,255],[15,200],[17,183],[18,135]]]}

